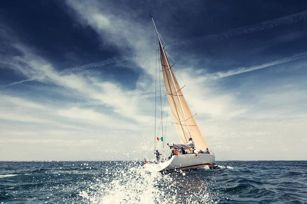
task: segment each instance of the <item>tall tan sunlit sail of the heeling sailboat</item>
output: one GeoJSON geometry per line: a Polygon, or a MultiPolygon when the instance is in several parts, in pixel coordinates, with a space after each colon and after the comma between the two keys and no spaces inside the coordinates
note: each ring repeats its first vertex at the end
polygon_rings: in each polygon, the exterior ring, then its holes
{"type": "Polygon", "coordinates": [[[196,149],[205,150],[206,148],[208,148],[207,143],[205,139],[203,138],[191,114],[191,111],[186,103],[186,100],[182,94],[182,91],[180,90],[177,79],[175,75],[173,74],[172,69],[170,68],[171,65],[169,64],[166,54],[164,56],[164,52],[163,52],[163,48],[162,48],[160,40],[159,40],[159,45],[160,45],[160,58],[161,58],[161,65],[162,65],[164,84],[166,88],[166,94],[167,94],[168,103],[169,103],[169,107],[173,115],[174,122],[176,123],[180,141],[183,144],[186,144],[189,141],[190,134],[188,131],[188,126],[187,126],[187,123],[188,123],[192,139],[195,142],[196,149]],[[172,74],[172,77],[171,77],[171,74],[172,74]],[[177,96],[175,87],[178,91],[179,98],[177,96]],[[181,102],[182,108],[181,108],[180,102],[181,102]],[[187,123],[185,121],[183,111],[186,116],[187,123]]]}

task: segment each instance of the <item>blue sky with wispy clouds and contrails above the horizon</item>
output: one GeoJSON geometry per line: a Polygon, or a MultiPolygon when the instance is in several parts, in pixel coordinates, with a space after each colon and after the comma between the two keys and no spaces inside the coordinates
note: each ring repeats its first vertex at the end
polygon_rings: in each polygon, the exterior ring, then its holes
{"type": "MultiPolygon", "coordinates": [[[[0,161],[154,158],[149,14],[216,161],[307,160],[306,1],[12,0],[0,3],[0,161]]],[[[165,141],[180,142],[162,110],[165,141]]]]}

